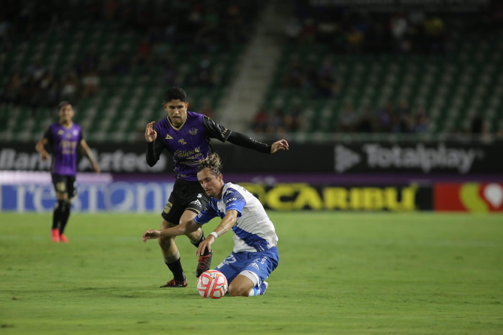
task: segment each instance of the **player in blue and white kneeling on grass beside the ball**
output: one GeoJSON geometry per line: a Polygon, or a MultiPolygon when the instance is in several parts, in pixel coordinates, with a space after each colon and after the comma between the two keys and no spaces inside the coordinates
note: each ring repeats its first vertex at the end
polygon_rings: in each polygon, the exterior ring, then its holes
{"type": "Polygon", "coordinates": [[[186,224],[162,230],[147,230],[147,239],[184,235],[196,231],[200,225],[212,218],[222,218],[220,224],[208,238],[199,244],[196,256],[205,249],[211,251],[211,244],[218,236],[232,229],[234,250],[218,265],[230,283],[231,296],[254,296],[264,294],[268,287],[265,281],[278,266],[278,236],[260,201],[243,187],[224,183],[220,173],[221,161],[216,153],[209,155],[198,166],[197,179],[211,198],[206,207],[186,224]]]}

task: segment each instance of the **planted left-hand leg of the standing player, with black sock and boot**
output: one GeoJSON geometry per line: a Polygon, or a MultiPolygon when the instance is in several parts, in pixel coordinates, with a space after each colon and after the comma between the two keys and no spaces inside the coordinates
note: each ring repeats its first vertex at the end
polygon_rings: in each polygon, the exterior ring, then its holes
{"type": "MultiPolygon", "coordinates": [[[[160,229],[171,228],[175,225],[161,219],[160,229]]],[[[186,287],[187,278],[185,277],[180,263],[180,253],[178,252],[177,245],[175,244],[175,237],[160,237],[158,243],[164,258],[164,263],[173,273],[173,279],[161,287],[186,287]]]]}

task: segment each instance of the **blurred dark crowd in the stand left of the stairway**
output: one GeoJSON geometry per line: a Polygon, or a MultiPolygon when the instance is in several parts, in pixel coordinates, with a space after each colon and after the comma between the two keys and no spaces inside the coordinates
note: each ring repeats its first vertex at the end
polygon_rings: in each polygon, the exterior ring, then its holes
{"type": "Polygon", "coordinates": [[[249,22],[260,3],[6,0],[0,13],[0,70],[9,79],[0,94],[1,102],[34,110],[57,105],[63,99],[76,102],[97,94],[104,78],[128,74],[138,68],[146,73],[155,71],[159,85],[174,86],[178,84],[179,66],[172,54],[182,44],[190,44],[190,48],[183,51],[188,57],[191,53],[200,56],[199,63],[190,68],[188,85],[212,88],[215,76],[210,53],[246,42],[249,22]],[[55,69],[54,64],[44,64],[40,59],[28,68],[12,68],[5,61],[15,43],[41,33],[64,36],[65,31],[81,22],[113,23],[118,33],[133,32],[141,39],[132,42],[136,43],[133,52],[98,54],[94,47],[89,47],[65,69],[55,69]]]}

